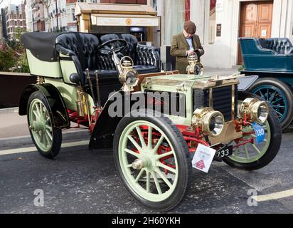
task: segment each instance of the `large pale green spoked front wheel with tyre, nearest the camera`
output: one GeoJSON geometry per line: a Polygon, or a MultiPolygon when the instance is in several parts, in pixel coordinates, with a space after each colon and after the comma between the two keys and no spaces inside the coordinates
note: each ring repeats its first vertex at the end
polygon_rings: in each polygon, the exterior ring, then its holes
{"type": "Polygon", "coordinates": [[[166,117],[123,118],[114,135],[114,160],[127,190],[145,207],[173,209],[190,187],[188,147],[166,117]]]}

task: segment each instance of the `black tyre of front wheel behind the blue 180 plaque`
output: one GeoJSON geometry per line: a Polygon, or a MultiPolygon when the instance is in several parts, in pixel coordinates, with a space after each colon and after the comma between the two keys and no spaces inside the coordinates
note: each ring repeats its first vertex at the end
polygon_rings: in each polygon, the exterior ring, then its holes
{"type": "MultiPolygon", "coordinates": [[[[263,100],[259,96],[249,93],[249,92],[239,92],[238,93],[238,100],[245,100],[245,98],[257,98],[260,100],[263,100]]],[[[259,160],[251,163],[240,163],[235,162],[230,159],[230,157],[223,158],[223,161],[230,165],[231,167],[238,168],[240,170],[260,170],[262,167],[265,167],[268,165],[272,160],[276,157],[277,153],[279,152],[279,148],[281,147],[282,143],[282,130],[281,125],[278,121],[277,114],[275,111],[270,107],[270,115],[267,121],[270,124],[270,130],[271,130],[271,141],[269,148],[267,152],[265,152],[265,155],[260,157],[259,160]]]]}

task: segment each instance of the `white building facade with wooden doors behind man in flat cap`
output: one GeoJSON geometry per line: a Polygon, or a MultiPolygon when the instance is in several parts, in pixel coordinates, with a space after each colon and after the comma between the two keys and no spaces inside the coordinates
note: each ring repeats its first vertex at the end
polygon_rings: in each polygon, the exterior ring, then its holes
{"type": "Polygon", "coordinates": [[[162,61],[171,38],[191,19],[206,50],[204,66],[231,68],[242,64],[239,37],[287,37],[293,41],[292,0],[156,0],[161,16],[162,61]]]}

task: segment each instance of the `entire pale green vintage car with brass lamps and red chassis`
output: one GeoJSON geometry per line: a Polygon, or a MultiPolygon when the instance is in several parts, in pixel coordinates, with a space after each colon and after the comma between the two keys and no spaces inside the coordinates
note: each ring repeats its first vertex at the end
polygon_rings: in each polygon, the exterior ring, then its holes
{"type": "Polygon", "coordinates": [[[277,115],[244,91],[257,77],[158,73],[154,48],[132,46],[131,35],[113,36],[23,34],[38,80],[23,90],[19,114],[27,115],[43,157],[58,155],[70,121],[86,126],[91,150],[113,150],[131,195],[145,207],[168,211],[191,186],[198,145],[213,149],[211,160],[242,170],[265,167],[277,155],[277,115]],[[124,56],[129,46],[142,53],[124,56]],[[106,62],[117,71],[110,72],[106,62]]]}

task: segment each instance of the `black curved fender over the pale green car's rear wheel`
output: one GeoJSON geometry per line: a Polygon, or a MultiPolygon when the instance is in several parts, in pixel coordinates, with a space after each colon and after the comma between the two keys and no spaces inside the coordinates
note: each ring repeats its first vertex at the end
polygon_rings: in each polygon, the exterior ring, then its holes
{"type": "Polygon", "coordinates": [[[33,92],[40,91],[49,104],[48,112],[53,120],[53,127],[57,129],[69,128],[70,120],[64,100],[57,88],[52,84],[32,84],[26,86],[19,102],[19,115],[27,115],[28,98],[33,92]]]}

